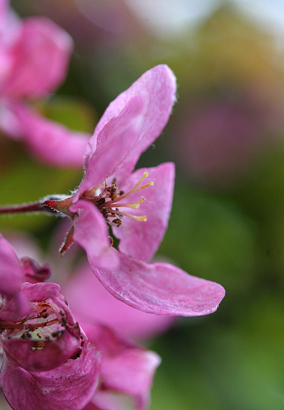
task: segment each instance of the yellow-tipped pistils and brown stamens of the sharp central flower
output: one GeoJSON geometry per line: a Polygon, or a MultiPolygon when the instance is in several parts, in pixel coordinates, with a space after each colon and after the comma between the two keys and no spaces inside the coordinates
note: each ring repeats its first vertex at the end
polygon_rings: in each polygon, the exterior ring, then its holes
{"type": "Polygon", "coordinates": [[[141,182],[145,178],[147,178],[148,175],[149,173],[145,171],[139,181],[137,181],[137,183],[134,185],[134,187],[132,187],[126,193],[118,191],[115,178],[112,181],[112,185],[109,187],[107,187],[105,181],[105,188],[99,195],[92,196],[92,190],[90,190],[84,193],[84,199],[91,200],[97,206],[109,226],[120,227],[122,223],[121,219],[123,218],[123,216],[135,219],[136,221],[146,221],[146,215],[133,215],[120,210],[120,208],[138,209],[140,207],[140,203],[143,203],[145,201],[143,197],[140,200],[133,202],[121,203],[120,201],[127,198],[129,195],[134,194],[135,192],[153,186],[153,181],[150,181],[141,186],[141,182]]]}

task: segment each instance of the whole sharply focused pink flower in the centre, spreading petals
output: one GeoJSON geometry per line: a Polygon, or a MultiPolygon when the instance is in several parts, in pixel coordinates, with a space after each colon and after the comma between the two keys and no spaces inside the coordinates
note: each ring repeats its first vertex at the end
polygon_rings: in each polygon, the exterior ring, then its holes
{"type": "Polygon", "coordinates": [[[98,122],[74,196],[43,204],[72,219],[61,251],[77,241],[96,277],[117,299],[148,313],[199,316],[217,309],[225,294],[222,286],[167,263],[146,263],[167,228],[174,166],[133,172],[166,125],[175,99],[176,79],[167,66],[144,73],[98,122]],[[145,215],[138,211],[142,203],[145,215]],[[110,226],[120,239],[120,252],[110,247],[110,226]]]}

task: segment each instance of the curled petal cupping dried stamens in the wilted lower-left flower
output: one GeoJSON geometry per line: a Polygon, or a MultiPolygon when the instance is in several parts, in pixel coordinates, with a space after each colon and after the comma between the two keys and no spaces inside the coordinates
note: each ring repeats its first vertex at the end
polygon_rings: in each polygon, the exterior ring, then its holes
{"type": "Polygon", "coordinates": [[[48,371],[69,359],[81,343],[80,330],[56,283],[23,284],[29,318],[1,332],[11,363],[30,372],[48,371]]]}

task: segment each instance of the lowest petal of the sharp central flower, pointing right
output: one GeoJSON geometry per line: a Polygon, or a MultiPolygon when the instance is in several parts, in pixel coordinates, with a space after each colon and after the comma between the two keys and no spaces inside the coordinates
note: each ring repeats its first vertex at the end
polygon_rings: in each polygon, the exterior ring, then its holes
{"type": "Polygon", "coordinates": [[[157,315],[203,316],[216,311],[223,286],[188,275],[168,263],[148,264],[120,254],[119,265],[100,269],[89,262],[106,290],[133,308],[157,315]]]}

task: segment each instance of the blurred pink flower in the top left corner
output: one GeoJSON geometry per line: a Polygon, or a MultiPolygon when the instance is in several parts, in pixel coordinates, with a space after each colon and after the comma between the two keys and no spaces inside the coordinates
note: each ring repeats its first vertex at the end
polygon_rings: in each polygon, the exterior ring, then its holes
{"type": "Polygon", "coordinates": [[[64,79],[72,39],[48,18],[19,20],[8,3],[0,0],[0,128],[23,140],[40,160],[80,167],[88,136],[42,118],[25,104],[49,96],[64,79]]]}

